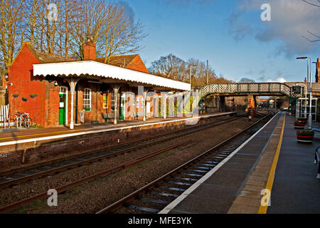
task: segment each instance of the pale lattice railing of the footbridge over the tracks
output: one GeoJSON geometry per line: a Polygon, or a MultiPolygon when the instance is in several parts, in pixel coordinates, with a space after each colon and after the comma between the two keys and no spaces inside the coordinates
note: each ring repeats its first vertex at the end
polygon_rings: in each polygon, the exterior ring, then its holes
{"type": "Polygon", "coordinates": [[[292,97],[292,88],[283,83],[223,83],[210,84],[200,90],[201,97],[217,95],[286,95],[292,97]]]}

